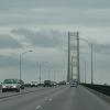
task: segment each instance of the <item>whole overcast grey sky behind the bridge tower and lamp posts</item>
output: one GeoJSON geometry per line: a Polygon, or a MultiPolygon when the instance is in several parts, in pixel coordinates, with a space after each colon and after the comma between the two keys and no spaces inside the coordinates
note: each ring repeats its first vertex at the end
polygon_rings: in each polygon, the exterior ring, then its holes
{"type": "MultiPolygon", "coordinates": [[[[0,0],[0,80],[22,78],[65,79],[67,32],[79,32],[94,44],[95,82],[110,84],[110,0],[0,0]]],[[[90,48],[80,42],[80,76],[84,61],[90,81],[90,48]]]]}

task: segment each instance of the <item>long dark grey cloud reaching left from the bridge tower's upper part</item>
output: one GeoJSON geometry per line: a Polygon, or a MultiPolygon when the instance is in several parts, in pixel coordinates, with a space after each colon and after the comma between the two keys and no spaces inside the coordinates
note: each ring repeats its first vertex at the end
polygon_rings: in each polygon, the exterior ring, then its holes
{"type": "Polygon", "coordinates": [[[66,42],[66,34],[58,31],[31,31],[28,29],[12,30],[13,34],[25,36],[25,41],[40,47],[59,47],[66,42]]]}

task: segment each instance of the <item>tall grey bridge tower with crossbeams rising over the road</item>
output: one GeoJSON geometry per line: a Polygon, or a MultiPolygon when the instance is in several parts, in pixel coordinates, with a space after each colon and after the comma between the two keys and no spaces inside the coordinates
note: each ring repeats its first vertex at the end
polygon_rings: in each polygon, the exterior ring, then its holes
{"type": "Polygon", "coordinates": [[[80,81],[79,74],[79,33],[68,32],[68,72],[67,81],[77,79],[80,81]]]}

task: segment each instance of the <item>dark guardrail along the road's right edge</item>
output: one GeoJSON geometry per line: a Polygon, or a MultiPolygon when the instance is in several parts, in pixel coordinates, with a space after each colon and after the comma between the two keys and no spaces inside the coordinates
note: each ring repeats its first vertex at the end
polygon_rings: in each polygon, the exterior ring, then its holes
{"type": "Polygon", "coordinates": [[[91,85],[91,84],[80,84],[85,87],[88,87],[90,89],[97,90],[101,94],[105,94],[107,96],[110,96],[110,86],[106,86],[106,85],[91,85]]]}

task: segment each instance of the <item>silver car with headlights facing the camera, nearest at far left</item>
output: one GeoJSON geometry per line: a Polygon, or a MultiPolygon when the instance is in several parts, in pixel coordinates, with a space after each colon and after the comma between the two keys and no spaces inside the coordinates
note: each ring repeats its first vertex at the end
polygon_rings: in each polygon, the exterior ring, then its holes
{"type": "Polygon", "coordinates": [[[2,82],[2,92],[9,91],[9,90],[20,92],[19,79],[4,79],[4,81],[2,82]]]}

